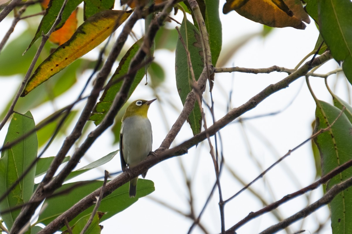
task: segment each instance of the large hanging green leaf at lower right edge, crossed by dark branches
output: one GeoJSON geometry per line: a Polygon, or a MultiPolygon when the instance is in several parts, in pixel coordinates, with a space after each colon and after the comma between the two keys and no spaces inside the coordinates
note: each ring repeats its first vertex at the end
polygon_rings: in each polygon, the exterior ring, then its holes
{"type": "MultiPolygon", "coordinates": [[[[316,108],[316,131],[330,126],[341,110],[327,102],[319,101],[316,108]]],[[[322,161],[322,175],[352,159],[352,124],[345,114],[336,120],[331,129],[318,135],[314,141],[319,148],[322,161]]],[[[333,177],[327,183],[329,190],[333,185],[352,176],[352,168],[333,177]]],[[[330,203],[331,226],[334,234],[352,232],[352,189],[338,194],[330,203]]]]}

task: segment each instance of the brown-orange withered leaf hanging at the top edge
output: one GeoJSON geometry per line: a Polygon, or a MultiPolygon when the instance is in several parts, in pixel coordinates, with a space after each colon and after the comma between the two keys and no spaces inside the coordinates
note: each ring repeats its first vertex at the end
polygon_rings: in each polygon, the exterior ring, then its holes
{"type": "Polygon", "coordinates": [[[310,23],[300,0],[227,0],[222,9],[224,14],[230,11],[270,27],[306,28],[310,23]]]}

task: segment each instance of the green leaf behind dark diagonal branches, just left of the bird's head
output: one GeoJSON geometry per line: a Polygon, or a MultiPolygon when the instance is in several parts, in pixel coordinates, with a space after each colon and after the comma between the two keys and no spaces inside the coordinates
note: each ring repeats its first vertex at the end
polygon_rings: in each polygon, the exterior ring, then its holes
{"type": "MultiPolygon", "coordinates": [[[[99,125],[99,123],[103,120],[107,111],[109,110],[112,102],[114,101],[115,95],[119,92],[123,79],[120,79],[122,76],[126,75],[128,72],[128,68],[130,67],[130,63],[134,55],[137,53],[140,45],[143,43],[143,38],[139,39],[136,43],[131,46],[130,49],[126,52],[124,57],[121,59],[119,63],[119,67],[116,69],[115,73],[109,80],[107,84],[107,89],[104,90],[103,94],[99,102],[96,104],[92,115],[90,116],[90,120],[93,120],[95,125],[99,125]]],[[[148,65],[147,65],[148,66],[148,65]]],[[[146,68],[140,68],[136,74],[136,77],[133,80],[130,92],[127,95],[127,99],[130,98],[134,89],[136,89],[139,82],[143,79],[145,75],[146,68]]],[[[126,100],[127,100],[126,99],[126,100]]]]}

